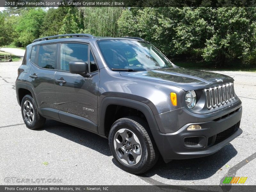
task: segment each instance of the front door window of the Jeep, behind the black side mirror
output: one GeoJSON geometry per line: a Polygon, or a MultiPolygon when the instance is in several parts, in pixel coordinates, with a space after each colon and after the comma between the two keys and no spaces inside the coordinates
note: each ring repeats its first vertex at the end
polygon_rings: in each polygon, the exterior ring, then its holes
{"type": "Polygon", "coordinates": [[[78,43],[61,44],[60,69],[69,71],[70,61],[88,63],[88,45],[78,43]]]}

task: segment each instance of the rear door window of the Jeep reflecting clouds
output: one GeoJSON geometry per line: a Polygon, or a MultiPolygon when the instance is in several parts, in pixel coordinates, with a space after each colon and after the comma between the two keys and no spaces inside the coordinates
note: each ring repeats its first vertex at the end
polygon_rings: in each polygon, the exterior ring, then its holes
{"type": "Polygon", "coordinates": [[[40,45],[38,52],[38,66],[46,69],[55,68],[57,44],[40,45]]]}

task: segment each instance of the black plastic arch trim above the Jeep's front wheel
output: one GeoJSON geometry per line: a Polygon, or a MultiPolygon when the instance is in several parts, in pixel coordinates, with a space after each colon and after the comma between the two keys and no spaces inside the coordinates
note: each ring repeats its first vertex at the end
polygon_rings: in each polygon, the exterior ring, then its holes
{"type": "Polygon", "coordinates": [[[140,101],[127,99],[127,98],[105,97],[101,101],[101,104],[98,105],[98,111],[99,111],[99,113],[98,113],[98,132],[99,132],[99,134],[106,135],[105,134],[105,126],[104,126],[105,113],[106,113],[107,107],[109,105],[121,105],[121,106],[130,107],[130,108],[140,110],[146,117],[146,119],[148,121],[149,128],[159,130],[158,125],[156,123],[155,116],[147,104],[140,102],[140,101]]]}

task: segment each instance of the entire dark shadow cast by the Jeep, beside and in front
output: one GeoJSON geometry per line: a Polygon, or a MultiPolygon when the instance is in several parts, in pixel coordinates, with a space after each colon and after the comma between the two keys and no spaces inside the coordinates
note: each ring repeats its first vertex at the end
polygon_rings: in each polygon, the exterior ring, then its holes
{"type": "MultiPolygon", "coordinates": [[[[106,148],[106,146],[108,146],[108,140],[95,133],[54,120],[47,120],[44,127],[40,130],[59,135],[65,139],[100,152],[105,156],[112,156],[109,148],[106,148]]],[[[158,175],[171,180],[206,179],[216,172],[221,172],[222,170],[220,169],[223,169],[223,171],[228,169],[225,165],[227,165],[228,161],[236,156],[236,154],[236,149],[229,143],[220,149],[220,151],[206,157],[173,160],[167,164],[164,163],[164,160],[160,157],[156,165],[148,172],[141,174],[140,178],[149,178],[158,175]]],[[[119,167],[114,158],[112,161],[119,167]]]]}

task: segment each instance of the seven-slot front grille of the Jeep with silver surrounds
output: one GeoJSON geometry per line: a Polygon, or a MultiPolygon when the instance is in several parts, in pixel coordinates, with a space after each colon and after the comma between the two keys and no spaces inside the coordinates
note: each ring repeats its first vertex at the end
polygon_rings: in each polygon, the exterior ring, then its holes
{"type": "Polygon", "coordinates": [[[218,87],[205,89],[206,105],[208,109],[224,105],[235,99],[234,84],[224,84],[218,87]]]}

